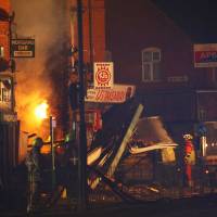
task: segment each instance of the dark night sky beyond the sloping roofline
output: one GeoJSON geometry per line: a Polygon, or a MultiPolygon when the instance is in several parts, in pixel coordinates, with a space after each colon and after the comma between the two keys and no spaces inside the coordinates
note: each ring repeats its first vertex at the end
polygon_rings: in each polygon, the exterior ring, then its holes
{"type": "Polygon", "coordinates": [[[216,0],[152,0],[197,42],[217,42],[216,0]]]}

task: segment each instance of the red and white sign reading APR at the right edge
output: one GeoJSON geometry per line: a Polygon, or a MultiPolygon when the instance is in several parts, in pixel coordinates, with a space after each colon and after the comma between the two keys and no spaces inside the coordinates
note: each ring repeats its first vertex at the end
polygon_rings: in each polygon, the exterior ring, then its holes
{"type": "Polygon", "coordinates": [[[217,43],[194,44],[194,67],[217,67],[217,43]]]}

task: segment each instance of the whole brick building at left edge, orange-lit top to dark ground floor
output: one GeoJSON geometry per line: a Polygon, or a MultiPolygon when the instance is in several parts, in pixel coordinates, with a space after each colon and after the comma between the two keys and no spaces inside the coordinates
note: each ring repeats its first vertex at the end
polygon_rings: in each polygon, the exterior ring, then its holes
{"type": "Polygon", "coordinates": [[[0,1],[0,179],[11,181],[18,161],[18,123],[14,112],[14,73],[10,59],[10,0],[0,1]]]}

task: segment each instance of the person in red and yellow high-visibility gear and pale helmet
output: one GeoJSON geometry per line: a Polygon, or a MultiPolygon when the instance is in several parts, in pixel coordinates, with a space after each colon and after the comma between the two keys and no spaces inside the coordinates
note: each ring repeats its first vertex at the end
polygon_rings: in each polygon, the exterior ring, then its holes
{"type": "Polygon", "coordinates": [[[192,143],[193,137],[191,135],[183,135],[184,139],[184,163],[188,186],[193,187],[192,167],[195,165],[195,150],[192,143]]]}

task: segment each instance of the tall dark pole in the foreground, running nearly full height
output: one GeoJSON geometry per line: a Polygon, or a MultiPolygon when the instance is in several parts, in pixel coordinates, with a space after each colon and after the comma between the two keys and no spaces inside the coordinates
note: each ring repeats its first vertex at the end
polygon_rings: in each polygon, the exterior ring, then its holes
{"type": "Polygon", "coordinates": [[[80,131],[78,146],[78,210],[87,209],[87,135],[85,123],[85,91],[84,91],[84,44],[82,44],[82,1],[77,0],[78,26],[78,73],[79,73],[79,115],[80,131]]]}

